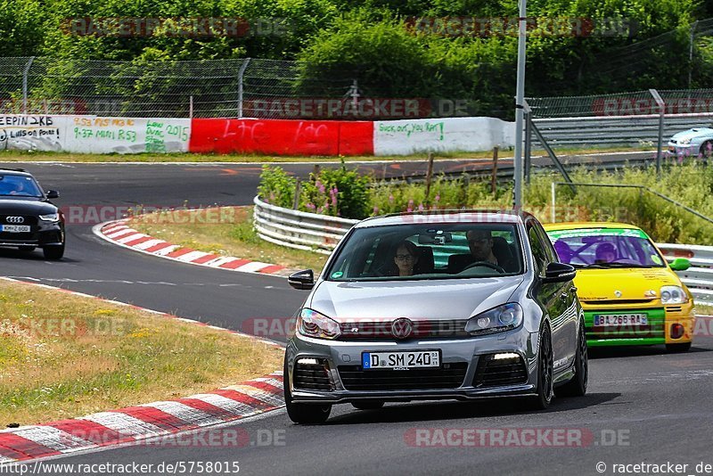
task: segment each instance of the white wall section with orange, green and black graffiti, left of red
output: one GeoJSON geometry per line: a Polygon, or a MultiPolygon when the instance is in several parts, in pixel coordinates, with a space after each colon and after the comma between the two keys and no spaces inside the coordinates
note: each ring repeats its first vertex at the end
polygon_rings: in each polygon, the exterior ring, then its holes
{"type": "Polygon", "coordinates": [[[0,150],[188,152],[190,119],[0,115],[0,150]]]}

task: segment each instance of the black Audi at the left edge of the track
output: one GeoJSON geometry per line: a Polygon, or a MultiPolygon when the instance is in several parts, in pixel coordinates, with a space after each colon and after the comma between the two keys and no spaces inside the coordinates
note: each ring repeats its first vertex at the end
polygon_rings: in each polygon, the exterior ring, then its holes
{"type": "Polygon", "coordinates": [[[32,174],[21,168],[0,168],[0,246],[23,251],[42,248],[46,259],[64,255],[64,216],[32,174]]]}

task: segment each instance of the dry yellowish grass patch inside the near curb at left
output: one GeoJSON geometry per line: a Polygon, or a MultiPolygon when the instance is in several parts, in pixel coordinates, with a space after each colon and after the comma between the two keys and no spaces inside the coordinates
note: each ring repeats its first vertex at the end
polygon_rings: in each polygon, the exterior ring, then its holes
{"type": "Polygon", "coordinates": [[[282,351],[101,300],[0,281],[0,428],[178,398],[281,368],[282,351]]]}

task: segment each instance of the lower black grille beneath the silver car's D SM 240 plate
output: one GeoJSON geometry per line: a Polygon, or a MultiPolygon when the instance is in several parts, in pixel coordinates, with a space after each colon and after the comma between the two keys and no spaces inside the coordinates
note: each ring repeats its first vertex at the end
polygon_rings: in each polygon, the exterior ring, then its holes
{"type": "Polygon", "coordinates": [[[410,370],[364,370],[361,365],[340,365],[341,382],[347,390],[436,390],[463,385],[467,362],[443,364],[441,368],[410,370]]]}

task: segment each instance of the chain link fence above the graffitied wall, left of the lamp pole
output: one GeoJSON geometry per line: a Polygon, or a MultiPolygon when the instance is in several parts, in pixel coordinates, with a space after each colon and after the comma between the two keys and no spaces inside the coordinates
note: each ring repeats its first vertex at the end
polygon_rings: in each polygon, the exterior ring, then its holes
{"type": "Polygon", "coordinates": [[[348,100],[355,81],[299,77],[296,62],[184,62],[0,58],[0,112],[146,118],[280,117],[270,107],[320,91],[348,100]],[[346,99],[345,99],[346,98],[346,99]]]}

